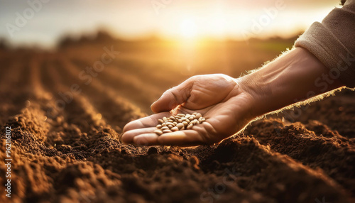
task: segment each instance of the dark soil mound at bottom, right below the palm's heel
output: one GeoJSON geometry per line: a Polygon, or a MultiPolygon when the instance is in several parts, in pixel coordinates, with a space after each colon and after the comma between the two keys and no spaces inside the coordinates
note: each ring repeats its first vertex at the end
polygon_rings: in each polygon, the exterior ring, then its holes
{"type": "Polygon", "coordinates": [[[241,135],[219,146],[202,146],[191,152],[201,161],[204,172],[216,174],[228,182],[224,183],[225,187],[235,184],[244,190],[261,192],[268,198],[284,199],[283,202],[312,202],[323,196],[329,202],[346,202],[344,189],[327,175],[274,153],[255,138],[241,135]]]}

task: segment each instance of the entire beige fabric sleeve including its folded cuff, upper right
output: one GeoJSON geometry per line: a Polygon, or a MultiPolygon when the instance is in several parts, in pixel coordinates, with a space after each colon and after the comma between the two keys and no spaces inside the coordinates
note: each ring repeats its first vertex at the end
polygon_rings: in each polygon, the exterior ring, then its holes
{"type": "Polygon", "coordinates": [[[295,41],[329,68],[329,77],[355,87],[355,0],[332,10],[322,23],[315,22],[295,41]]]}

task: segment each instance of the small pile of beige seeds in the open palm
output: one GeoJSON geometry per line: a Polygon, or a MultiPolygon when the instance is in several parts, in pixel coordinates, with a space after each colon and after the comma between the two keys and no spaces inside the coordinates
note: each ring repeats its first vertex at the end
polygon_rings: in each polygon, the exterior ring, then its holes
{"type": "Polygon", "coordinates": [[[158,129],[154,133],[161,136],[163,133],[191,129],[192,126],[202,124],[206,119],[200,113],[195,112],[193,114],[178,114],[169,118],[163,117],[163,119],[158,119],[158,121],[160,124],[156,126],[158,129]]]}

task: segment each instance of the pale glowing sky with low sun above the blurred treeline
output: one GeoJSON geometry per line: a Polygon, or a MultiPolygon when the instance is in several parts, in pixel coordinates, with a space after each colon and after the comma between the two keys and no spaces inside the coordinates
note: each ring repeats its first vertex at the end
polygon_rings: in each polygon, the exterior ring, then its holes
{"type": "Polygon", "coordinates": [[[107,29],[125,39],[289,37],[340,0],[0,0],[0,38],[50,48],[70,33],[107,29]]]}

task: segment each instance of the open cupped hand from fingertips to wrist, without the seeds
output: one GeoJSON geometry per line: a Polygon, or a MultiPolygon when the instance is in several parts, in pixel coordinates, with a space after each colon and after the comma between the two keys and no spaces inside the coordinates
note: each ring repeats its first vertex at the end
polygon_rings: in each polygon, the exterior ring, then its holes
{"type": "Polygon", "coordinates": [[[253,119],[251,95],[238,79],[227,75],[197,75],[168,89],[151,105],[155,113],[124,126],[121,141],[138,145],[196,146],[213,144],[232,136],[253,119]],[[206,121],[190,130],[164,133],[153,131],[158,119],[173,114],[200,112],[206,121]]]}

